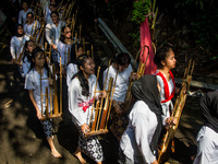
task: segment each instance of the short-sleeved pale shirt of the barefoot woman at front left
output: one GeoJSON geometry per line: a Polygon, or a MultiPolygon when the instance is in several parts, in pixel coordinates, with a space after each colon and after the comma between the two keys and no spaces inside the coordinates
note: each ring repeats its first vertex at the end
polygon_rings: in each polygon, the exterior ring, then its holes
{"type": "MultiPolygon", "coordinates": [[[[46,96],[43,96],[43,101],[41,101],[41,95],[46,95],[46,87],[48,87],[48,94],[50,94],[50,90],[49,90],[50,87],[49,87],[49,81],[48,81],[46,68],[44,68],[44,74],[41,79],[43,80],[41,80],[41,87],[40,87],[40,74],[35,70],[35,68],[33,68],[26,74],[24,87],[26,90],[34,91],[34,98],[36,101],[37,107],[41,112],[41,105],[43,105],[43,113],[44,113],[46,109],[46,96]]],[[[48,107],[50,112],[50,96],[48,96],[48,102],[49,102],[48,107]]]]}

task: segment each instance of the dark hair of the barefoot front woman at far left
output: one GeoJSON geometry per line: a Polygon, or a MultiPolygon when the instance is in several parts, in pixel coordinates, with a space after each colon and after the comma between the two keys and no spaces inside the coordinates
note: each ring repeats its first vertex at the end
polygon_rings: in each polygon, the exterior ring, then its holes
{"type": "MultiPolygon", "coordinates": [[[[40,49],[39,47],[36,47],[32,52],[32,60],[31,60],[31,69],[29,69],[29,71],[35,68],[35,62],[33,61],[33,59],[35,59],[39,54],[44,54],[45,55],[45,51],[43,49],[40,49]]],[[[45,55],[45,58],[46,58],[46,55],[45,55]]],[[[44,67],[46,68],[47,75],[49,77],[49,68],[48,68],[48,63],[47,63],[46,59],[45,59],[44,67]]]]}

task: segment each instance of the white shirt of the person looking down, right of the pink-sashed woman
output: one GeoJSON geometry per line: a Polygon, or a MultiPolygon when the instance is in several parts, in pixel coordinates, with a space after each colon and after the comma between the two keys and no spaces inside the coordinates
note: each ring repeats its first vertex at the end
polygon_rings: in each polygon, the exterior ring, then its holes
{"type": "MultiPolygon", "coordinates": [[[[132,72],[132,66],[129,65],[129,67],[122,71],[118,73],[117,77],[117,81],[116,81],[116,87],[114,87],[114,93],[113,93],[113,99],[118,101],[118,102],[124,102],[125,99],[125,94],[129,87],[129,78],[131,75],[132,72]]],[[[108,68],[104,71],[104,79],[102,79],[102,84],[105,84],[105,80],[106,80],[106,75],[108,72],[108,68]]],[[[111,65],[109,67],[109,72],[108,72],[108,78],[107,78],[107,83],[106,83],[106,90],[108,89],[108,83],[109,83],[109,79],[113,78],[113,83],[116,80],[116,74],[117,74],[117,69],[113,68],[113,66],[111,65]]]]}

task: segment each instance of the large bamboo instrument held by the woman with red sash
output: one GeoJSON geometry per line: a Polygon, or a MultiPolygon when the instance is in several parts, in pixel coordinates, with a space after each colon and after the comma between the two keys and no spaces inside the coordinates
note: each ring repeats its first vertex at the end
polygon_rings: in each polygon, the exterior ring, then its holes
{"type": "Polygon", "coordinates": [[[191,59],[187,68],[185,68],[181,89],[180,89],[180,93],[177,97],[177,101],[175,101],[175,104],[174,104],[174,107],[173,107],[173,110],[172,110],[172,114],[171,114],[171,118],[177,118],[177,124],[169,127],[169,129],[167,130],[167,132],[166,132],[166,134],[162,139],[164,141],[161,142],[161,144],[159,144],[158,163],[161,163],[166,159],[169,145],[171,145],[172,140],[173,140],[174,134],[175,134],[175,130],[179,126],[179,121],[180,121],[180,118],[181,118],[181,115],[182,115],[182,110],[184,108],[185,101],[186,101],[186,93],[190,90],[190,83],[191,83],[192,73],[193,73],[193,70],[194,70],[194,62],[195,61],[193,61],[191,59]]]}

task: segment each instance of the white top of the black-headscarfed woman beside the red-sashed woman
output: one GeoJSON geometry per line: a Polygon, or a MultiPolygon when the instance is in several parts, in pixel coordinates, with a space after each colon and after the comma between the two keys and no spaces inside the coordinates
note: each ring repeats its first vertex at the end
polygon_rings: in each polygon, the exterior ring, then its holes
{"type": "Polygon", "coordinates": [[[135,163],[153,163],[156,156],[149,144],[158,125],[155,113],[143,101],[137,101],[129,118],[129,126],[120,141],[121,150],[125,156],[135,163]]]}

